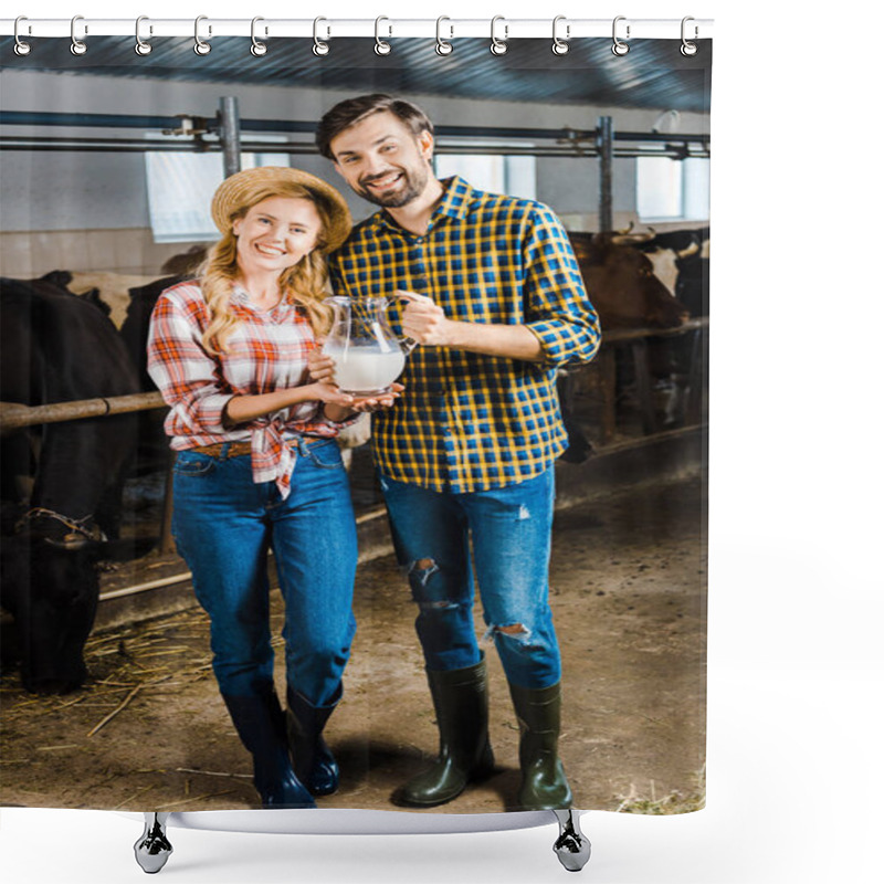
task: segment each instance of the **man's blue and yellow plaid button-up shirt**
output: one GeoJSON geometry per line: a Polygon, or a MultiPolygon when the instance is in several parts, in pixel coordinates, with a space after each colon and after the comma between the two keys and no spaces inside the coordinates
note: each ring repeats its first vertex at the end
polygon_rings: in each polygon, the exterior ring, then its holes
{"type": "MultiPolygon", "coordinates": [[[[512,485],[538,475],[567,446],[556,369],[596,354],[598,316],[568,235],[546,206],[485,193],[456,176],[427,233],[386,211],[358,224],[332,256],[335,293],[430,296],[451,319],[526,325],[544,361],[417,347],[392,409],[372,415],[381,473],[454,493],[512,485]]],[[[401,301],[390,322],[401,333],[401,301]]]]}

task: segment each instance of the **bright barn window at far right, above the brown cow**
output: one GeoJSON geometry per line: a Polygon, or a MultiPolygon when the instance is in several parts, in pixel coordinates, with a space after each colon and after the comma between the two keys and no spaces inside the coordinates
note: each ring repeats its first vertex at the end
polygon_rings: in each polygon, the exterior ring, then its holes
{"type": "Polygon", "coordinates": [[[639,157],[635,202],[642,221],[707,221],[709,160],[639,157]]]}

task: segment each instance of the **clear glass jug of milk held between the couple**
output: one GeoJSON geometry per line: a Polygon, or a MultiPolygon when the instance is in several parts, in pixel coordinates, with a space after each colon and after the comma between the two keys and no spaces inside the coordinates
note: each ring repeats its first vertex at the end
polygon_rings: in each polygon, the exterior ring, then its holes
{"type": "Polygon", "coordinates": [[[406,366],[414,349],[411,338],[398,338],[387,322],[387,297],[327,297],[335,311],[323,352],[335,360],[335,381],[350,396],[381,396],[406,366]]]}

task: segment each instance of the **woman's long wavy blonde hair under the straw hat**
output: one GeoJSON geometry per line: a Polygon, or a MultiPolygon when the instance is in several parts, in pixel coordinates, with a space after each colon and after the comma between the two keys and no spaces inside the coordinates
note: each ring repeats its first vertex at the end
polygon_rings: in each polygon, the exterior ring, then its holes
{"type": "Polygon", "coordinates": [[[316,193],[302,185],[259,186],[248,193],[245,201],[230,215],[227,232],[209,250],[197,272],[210,316],[209,325],[202,334],[202,345],[214,356],[228,351],[227,341],[239,322],[230,306],[233,285],[239,277],[233,222],[239,218],[244,218],[251,208],[271,197],[308,200],[316,208],[322,221],[322,230],[316,245],[297,264],[282,273],[280,294],[286,304],[297,304],[304,307],[314,335],[324,335],[332,325],[333,311],[323,303],[328,295],[328,266],[324,250],[327,245],[326,231],[329,229],[329,213],[325,202],[317,199],[316,193]]]}

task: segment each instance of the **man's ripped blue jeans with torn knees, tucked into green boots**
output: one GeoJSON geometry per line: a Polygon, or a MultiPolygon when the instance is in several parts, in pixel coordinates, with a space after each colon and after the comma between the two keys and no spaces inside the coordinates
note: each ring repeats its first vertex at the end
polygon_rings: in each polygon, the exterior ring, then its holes
{"type": "Polygon", "coordinates": [[[435,492],[380,476],[399,564],[418,603],[427,669],[478,663],[473,625],[472,536],[483,617],[506,677],[540,688],[561,677],[549,609],[555,473],[491,491],[435,492]]]}

